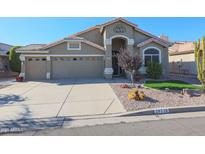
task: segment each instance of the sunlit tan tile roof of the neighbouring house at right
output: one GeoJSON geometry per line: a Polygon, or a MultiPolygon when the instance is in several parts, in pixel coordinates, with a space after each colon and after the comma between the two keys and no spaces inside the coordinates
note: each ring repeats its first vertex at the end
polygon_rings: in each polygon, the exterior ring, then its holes
{"type": "Polygon", "coordinates": [[[186,54],[194,52],[193,42],[176,42],[171,47],[169,47],[169,54],[186,54]]]}

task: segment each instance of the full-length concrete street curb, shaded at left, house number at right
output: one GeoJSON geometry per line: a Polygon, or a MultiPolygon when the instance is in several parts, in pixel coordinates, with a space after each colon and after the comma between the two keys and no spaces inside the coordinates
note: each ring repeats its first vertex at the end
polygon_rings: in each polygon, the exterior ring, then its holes
{"type": "Polygon", "coordinates": [[[36,131],[50,128],[61,128],[65,122],[73,120],[93,120],[93,119],[109,119],[120,117],[134,116],[151,116],[151,115],[168,115],[174,113],[185,112],[202,112],[205,111],[205,105],[198,106],[181,106],[181,107],[164,107],[144,109],[140,111],[131,111],[126,113],[116,113],[108,115],[93,115],[93,116],[76,116],[76,117],[53,117],[53,118],[36,118],[36,119],[21,119],[19,121],[0,121],[0,135],[8,133],[22,133],[26,131],[36,131]],[[11,123],[10,123],[11,122],[11,123]]]}

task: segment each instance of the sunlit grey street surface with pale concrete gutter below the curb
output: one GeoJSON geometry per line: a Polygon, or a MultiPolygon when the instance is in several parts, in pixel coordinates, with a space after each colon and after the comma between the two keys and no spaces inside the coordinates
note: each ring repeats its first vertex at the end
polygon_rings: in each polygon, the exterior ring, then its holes
{"type": "MultiPolygon", "coordinates": [[[[205,112],[59,121],[58,127],[2,135],[200,135],[205,112]],[[189,121],[184,125],[184,121],[189,121]],[[182,121],[180,123],[179,121],[182,121]],[[62,122],[62,123],[61,123],[62,122]],[[190,125],[193,123],[193,125],[190,125]],[[182,126],[184,125],[184,126],[182,126]],[[199,129],[193,132],[193,126],[199,129]],[[117,127],[118,126],[118,127],[117,127]],[[200,126],[200,127],[199,127],[200,126]],[[185,131],[186,129],[186,131],[185,131]],[[190,129],[192,132],[190,132],[190,129]],[[70,133],[69,133],[70,132],[70,133]],[[113,134],[114,133],[114,134],[113,134]]],[[[14,129],[15,130],[15,129],[14,129]]]]}

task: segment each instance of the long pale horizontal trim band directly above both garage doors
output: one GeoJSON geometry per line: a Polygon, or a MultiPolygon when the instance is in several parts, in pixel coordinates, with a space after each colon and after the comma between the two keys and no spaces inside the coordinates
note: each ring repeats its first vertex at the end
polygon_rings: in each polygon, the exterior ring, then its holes
{"type": "Polygon", "coordinates": [[[60,55],[60,54],[28,54],[28,55],[23,55],[25,57],[47,57],[47,56],[50,56],[50,57],[104,57],[105,55],[98,55],[98,54],[88,54],[88,55],[80,55],[80,54],[63,54],[63,55],[60,55]]]}

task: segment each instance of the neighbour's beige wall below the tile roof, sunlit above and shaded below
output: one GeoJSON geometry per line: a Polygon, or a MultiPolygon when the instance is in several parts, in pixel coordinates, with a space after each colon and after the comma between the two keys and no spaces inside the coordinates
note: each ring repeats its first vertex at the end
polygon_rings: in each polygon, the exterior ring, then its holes
{"type": "Polygon", "coordinates": [[[177,62],[181,62],[181,69],[188,70],[189,74],[196,75],[197,68],[195,64],[194,53],[181,54],[181,55],[172,55],[169,56],[170,72],[180,73],[177,62]]]}

